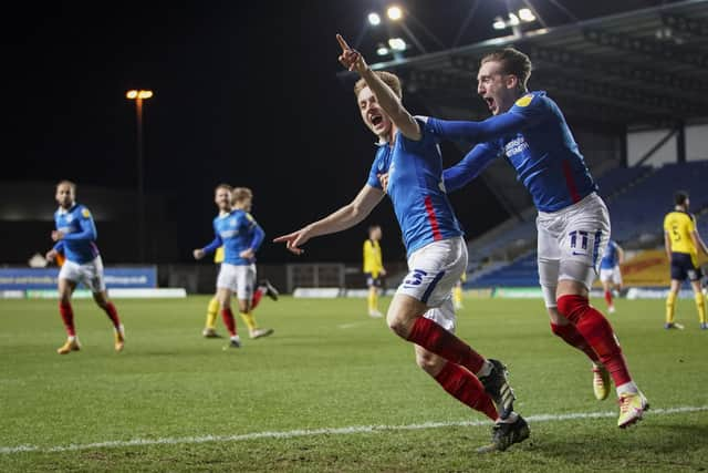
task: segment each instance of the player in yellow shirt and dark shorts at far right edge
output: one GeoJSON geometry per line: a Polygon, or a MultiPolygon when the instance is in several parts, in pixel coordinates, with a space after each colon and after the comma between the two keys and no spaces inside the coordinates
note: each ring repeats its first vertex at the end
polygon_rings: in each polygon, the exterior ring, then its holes
{"type": "Polygon", "coordinates": [[[708,330],[706,321],[706,298],[700,290],[700,278],[702,277],[700,266],[698,266],[698,250],[708,255],[706,244],[698,235],[696,227],[696,216],[688,213],[690,200],[685,192],[677,192],[674,197],[674,212],[669,212],[664,217],[664,247],[666,256],[671,266],[671,286],[666,297],[666,323],[664,328],[683,328],[680,323],[674,322],[676,312],[676,297],[678,290],[686,278],[690,281],[698,311],[698,321],[702,330],[708,330]]]}

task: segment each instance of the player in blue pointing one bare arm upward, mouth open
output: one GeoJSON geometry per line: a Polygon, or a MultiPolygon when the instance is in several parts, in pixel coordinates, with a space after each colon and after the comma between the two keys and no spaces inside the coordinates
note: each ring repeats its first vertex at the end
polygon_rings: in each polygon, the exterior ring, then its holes
{"type": "Polygon", "coordinates": [[[450,291],[467,267],[467,246],[441,186],[438,144],[425,120],[414,119],[400,103],[398,78],[374,73],[339,34],[337,41],[340,62],[362,76],[354,93],[364,124],[379,140],[378,151],[366,184],[350,204],[274,241],[285,243],[299,255],[300,246],[311,238],[355,226],[383,199],[378,175],[388,173],[388,196],[403,233],[409,273],[388,307],[386,321],[398,337],[415,345],[418,366],[442,389],[494,422],[490,450],[506,450],[525,440],[529,428],[513,412],[503,364],[486,359],[454,333],[450,291]]]}

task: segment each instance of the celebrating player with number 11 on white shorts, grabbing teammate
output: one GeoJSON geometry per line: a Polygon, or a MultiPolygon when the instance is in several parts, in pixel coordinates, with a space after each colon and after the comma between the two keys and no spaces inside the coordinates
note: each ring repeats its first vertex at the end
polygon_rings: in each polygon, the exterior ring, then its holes
{"type": "Polygon", "coordinates": [[[607,207],[565,119],[545,92],[529,92],[531,61],[508,48],[487,54],[477,92],[492,113],[482,122],[429,119],[440,140],[465,141],[473,148],[445,171],[448,192],[462,187],[497,157],[504,156],[529,189],[537,218],[539,279],[553,333],[594,363],[595,395],[608,395],[610,374],[620,400],[617,425],[642,419],[648,402],[629,374],[610,321],[590,305],[597,263],[610,238],[607,207]]]}

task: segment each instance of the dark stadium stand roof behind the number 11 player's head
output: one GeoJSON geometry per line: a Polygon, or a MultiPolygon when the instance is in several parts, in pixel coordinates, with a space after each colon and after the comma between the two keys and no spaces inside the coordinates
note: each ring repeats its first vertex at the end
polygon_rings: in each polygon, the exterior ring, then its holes
{"type": "Polygon", "coordinates": [[[707,115],[706,0],[496,38],[372,68],[395,71],[406,91],[436,114],[479,120],[489,115],[476,93],[479,60],[510,45],[533,61],[530,89],[548,91],[571,120],[663,125],[707,115]]]}

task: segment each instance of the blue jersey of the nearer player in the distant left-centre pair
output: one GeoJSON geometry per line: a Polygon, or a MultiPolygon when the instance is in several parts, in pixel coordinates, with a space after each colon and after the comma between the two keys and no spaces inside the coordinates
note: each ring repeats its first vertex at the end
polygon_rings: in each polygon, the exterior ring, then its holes
{"type": "Polygon", "coordinates": [[[215,240],[205,248],[208,253],[223,246],[223,263],[230,265],[250,265],[256,258],[241,258],[241,251],[249,248],[258,250],[266,234],[251,214],[241,209],[231,210],[214,219],[215,240]]]}

